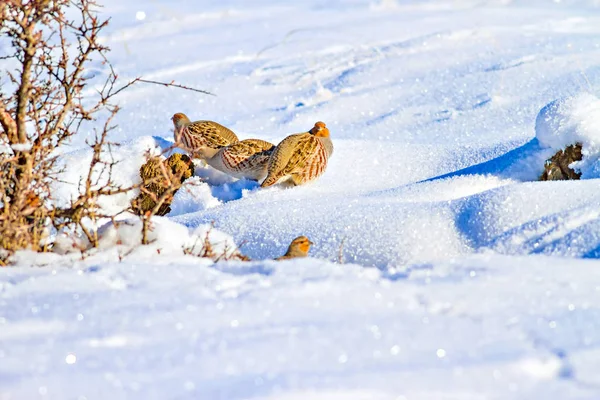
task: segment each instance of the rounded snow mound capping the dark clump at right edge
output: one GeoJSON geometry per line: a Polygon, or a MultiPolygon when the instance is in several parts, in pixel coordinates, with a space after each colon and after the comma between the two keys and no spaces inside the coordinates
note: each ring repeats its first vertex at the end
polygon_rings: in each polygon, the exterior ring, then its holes
{"type": "Polygon", "coordinates": [[[535,121],[539,143],[555,151],[581,143],[583,160],[571,164],[583,179],[600,177],[600,99],[589,93],[547,104],[535,121]]]}

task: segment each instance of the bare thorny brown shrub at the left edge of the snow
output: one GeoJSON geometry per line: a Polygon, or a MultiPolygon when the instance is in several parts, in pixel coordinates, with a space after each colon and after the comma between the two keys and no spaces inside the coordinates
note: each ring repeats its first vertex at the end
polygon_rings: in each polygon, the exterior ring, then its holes
{"type": "MultiPolygon", "coordinates": [[[[97,246],[96,222],[115,217],[98,207],[99,197],[137,188],[118,187],[112,180],[115,144],[108,134],[119,111],[115,95],[136,82],[206,93],[141,78],[118,85],[107,59],[109,49],[99,36],[108,20],[100,18],[98,10],[93,0],[0,3],[0,264],[16,250],[49,250],[52,230],[84,235],[97,246]],[[96,74],[101,80],[86,73],[92,63],[101,71],[96,74]],[[84,130],[94,132],[88,143],[93,151],[89,171],[80,182],[79,196],[59,208],[50,190],[61,172],[57,150],[84,130]]],[[[179,172],[161,171],[156,181],[176,182],[170,186],[176,190],[179,172]]],[[[172,194],[155,199],[156,207],[140,213],[144,229],[172,194]]]]}

